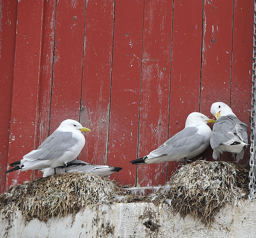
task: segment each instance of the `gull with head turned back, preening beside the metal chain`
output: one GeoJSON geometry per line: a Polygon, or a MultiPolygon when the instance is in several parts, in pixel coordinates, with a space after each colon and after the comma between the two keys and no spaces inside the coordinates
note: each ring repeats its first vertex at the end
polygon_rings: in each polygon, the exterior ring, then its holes
{"type": "Polygon", "coordinates": [[[213,149],[212,158],[217,160],[223,152],[230,152],[238,163],[247,149],[247,125],[241,122],[232,109],[223,102],[214,102],[211,113],[216,117],[212,128],[210,144],[213,149]]]}

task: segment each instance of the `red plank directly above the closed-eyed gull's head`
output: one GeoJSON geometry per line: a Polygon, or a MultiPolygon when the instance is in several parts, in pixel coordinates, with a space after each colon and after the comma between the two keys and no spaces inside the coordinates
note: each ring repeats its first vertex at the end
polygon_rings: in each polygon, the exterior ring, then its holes
{"type": "MultiPolygon", "coordinates": [[[[174,1],[169,138],[199,111],[202,15],[202,1],[174,1]]],[[[168,177],[178,164],[168,162],[168,177]]]]}

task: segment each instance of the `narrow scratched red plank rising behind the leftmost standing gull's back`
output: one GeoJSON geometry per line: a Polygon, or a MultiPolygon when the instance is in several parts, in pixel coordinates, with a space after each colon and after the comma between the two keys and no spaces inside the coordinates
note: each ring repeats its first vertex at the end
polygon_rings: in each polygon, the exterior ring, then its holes
{"type": "MultiPolygon", "coordinates": [[[[44,1],[36,148],[49,136],[56,0],[44,1]]],[[[41,177],[34,171],[35,178],[41,177]]]]}

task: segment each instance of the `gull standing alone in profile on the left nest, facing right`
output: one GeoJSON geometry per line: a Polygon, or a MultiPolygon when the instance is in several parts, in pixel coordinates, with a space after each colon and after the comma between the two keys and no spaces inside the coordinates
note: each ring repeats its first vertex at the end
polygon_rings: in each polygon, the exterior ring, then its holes
{"type": "Polygon", "coordinates": [[[10,164],[14,168],[6,173],[28,169],[55,168],[66,166],[68,162],[77,158],[85,144],[82,131],[90,129],[83,127],[79,122],[71,119],[63,121],[59,127],[47,137],[37,150],[32,150],[18,160],[10,164]]]}

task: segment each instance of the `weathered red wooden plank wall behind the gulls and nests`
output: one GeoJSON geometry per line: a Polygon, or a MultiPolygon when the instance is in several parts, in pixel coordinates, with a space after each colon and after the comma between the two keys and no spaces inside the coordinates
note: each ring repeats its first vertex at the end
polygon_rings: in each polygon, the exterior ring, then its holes
{"type": "Polygon", "coordinates": [[[92,131],[80,159],[123,167],[111,178],[131,186],[168,180],[179,164],[128,162],[192,111],[223,101],[249,124],[253,1],[0,3],[1,192],[41,175],[5,171],[68,118],[92,131]]]}

